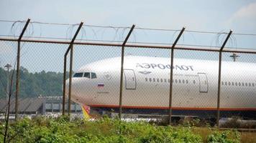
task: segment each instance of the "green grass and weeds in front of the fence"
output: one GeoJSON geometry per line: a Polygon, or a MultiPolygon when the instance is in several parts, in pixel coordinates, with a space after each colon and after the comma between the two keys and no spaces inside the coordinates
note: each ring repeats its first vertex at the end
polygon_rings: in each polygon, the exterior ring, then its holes
{"type": "MultiPolygon", "coordinates": [[[[4,132],[4,123],[0,122],[4,132]]],[[[255,133],[219,131],[208,127],[159,126],[102,118],[95,121],[67,117],[21,119],[9,128],[10,142],[255,142],[255,133]]],[[[0,142],[3,135],[0,134],[0,142]]]]}

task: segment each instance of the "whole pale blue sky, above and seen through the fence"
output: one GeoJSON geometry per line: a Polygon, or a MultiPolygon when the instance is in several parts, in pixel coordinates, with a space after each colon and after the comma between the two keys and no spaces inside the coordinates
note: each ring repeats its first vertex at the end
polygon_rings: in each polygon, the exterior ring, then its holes
{"type": "MultiPolygon", "coordinates": [[[[225,31],[233,29],[234,33],[249,33],[256,34],[256,1],[252,0],[179,0],[179,1],[152,1],[152,0],[109,0],[109,1],[88,1],[88,0],[0,0],[0,20],[27,20],[28,18],[32,21],[50,22],[50,23],[68,23],[78,24],[84,21],[85,24],[89,25],[101,25],[101,26],[132,26],[135,24],[136,27],[144,28],[157,28],[157,29],[181,29],[186,26],[186,30],[199,30],[199,31],[225,31]]],[[[0,22],[0,35],[10,34],[11,25],[1,24],[0,22]]],[[[42,27],[35,26],[36,36],[54,36],[54,37],[66,37],[67,27],[58,29],[58,27],[52,26],[42,27]],[[52,28],[53,27],[53,28],[52,28]],[[40,30],[37,30],[40,29],[40,30]],[[42,30],[44,29],[44,30],[42,30]],[[40,31],[40,32],[38,32],[40,31]],[[65,35],[65,36],[64,36],[65,35]]],[[[92,31],[88,31],[88,33],[92,31]]],[[[17,29],[19,33],[19,28],[17,29]]],[[[100,31],[98,37],[91,36],[91,39],[102,39],[99,38],[104,31],[100,31]]],[[[98,33],[97,33],[98,34],[98,33]]],[[[143,34],[140,35],[140,31],[137,31],[136,41],[153,41],[153,42],[170,42],[166,39],[166,34],[151,34],[150,38],[145,38],[143,34]],[[154,41],[155,40],[155,41],[154,41]]],[[[109,38],[109,35],[106,35],[109,38]]],[[[112,37],[112,36],[111,36],[112,37]]],[[[207,41],[209,45],[212,45],[211,40],[206,40],[206,36],[191,36],[187,34],[183,37],[183,43],[185,44],[204,44],[207,41]],[[196,38],[195,38],[196,37],[196,38]],[[185,40],[184,40],[185,39],[185,40]],[[190,40],[191,39],[191,40],[190,40]],[[211,42],[210,42],[211,41],[211,42]],[[210,44],[211,43],[211,44],[210,44]]],[[[106,38],[106,39],[107,39],[106,38]]],[[[256,48],[256,36],[243,37],[236,36],[234,39],[237,40],[235,46],[245,46],[250,48],[256,48]]],[[[112,39],[112,38],[111,38],[112,39]]],[[[120,40],[123,39],[119,38],[120,40]]],[[[133,41],[134,41],[133,37],[133,41]]],[[[10,52],[15,53],[15,44],[8,42],[0,42],[0,60],[1,65],[6,62],[14,64],[14,57],[9,58],[6,56],[10,52]],[[4,45],[4,46],[3,46],[4,45]],[[7,49],[3,47],[12,47],[13,49],[7,49]]],[[[58,50],[52,51],[55,46],[48,46],[47,51],[40,51],[34,48],[33,44],[24,44],[23,54],[29,56],[24,58],[24,66],[29,68],[31,71],[40,71],[42,69],[46,71],[61,71],[62,69],[62,55],[64,49],[59,47],[58,50]],[[57,52],[58,53],[54,53],[57,52]],[[43,53],[42,53],[43,52],[43,53]],[[49,64],[50,61],[37,59],[37,54],[42,54],[42,58],[56,61],[54,64],[49,64]],[[55,58],[49,55],[56,55],[55,58]],[[58,55],[58,56],[57,56],[58,55]],[[47,58],[49,56],[50,58],[47,58]],[[57,62],[58,61],[58,62],[57,62]],[[37,63],[37,64],[35,64],[37,63]],[[41,65],[39,65],[39,64],[41,65]],[[42,66],[49,64],[48,66],[42,66]],[[61,65],[61,66],[60,66],[61,65]],[[35,67],[36,66],[36,67],[35,67]],[[55,68],[53,67],[60,67],[55,68]]],[[[39,47],[43,47],[41,45],[39,47]]],[[[234,45],[233,45],[234,46],[234,45]]],[[[93,47],[91,47],[93,48],[93,47]]],[[[97,47],[99,51],[102,47],[97,47]]],[[[79,50],[78,50],[79,51],[79,50]]],[[[155,50],[157,51],[157,50],[155,50]]],[[[79,58],[86,51],[79,51],[79,58]]],[[[93,51],[93,53],[98,51],[93,51]]],[[[111,51],[109,51],[111,53],[111,51]]],[[[119,51],[113,51],[118,53],[119,51]]],[[[159,52],[161,53],[161,52],[159,52]]],[[[116,56],[118,54],[104,54],[103,57],[116,56]]],[[[153,54],[154,55],[154,54],[153,54]]],[[[157,54],[157,56],[161,54],[157,54]]],[[[168,54],[167,54],[168,55],[168,54]]],[[[77,59],[78,60],[78,59],[77,59]]],[[[96,59],[86,59],[85,62],[75,65],[75,69],[78,69],[82,64],[88,63],[88,61],[95,61],[96,59]]]]}

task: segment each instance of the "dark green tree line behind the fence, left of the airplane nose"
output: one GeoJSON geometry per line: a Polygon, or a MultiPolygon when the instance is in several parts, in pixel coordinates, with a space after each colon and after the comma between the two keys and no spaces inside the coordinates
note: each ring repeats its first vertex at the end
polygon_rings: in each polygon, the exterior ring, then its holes
{"type": "MultiPolygon", "coordinates": [[[[9,71],[9,80],[14,72],[12,97],[15,96],[16,70],[9,71]]],[[[67,76],[68,77],[68,76],[67,76]]],[[[7,71],[0,67],[0,98],[6,97],[7,71]]],[[[9,82],[11,83],[11,82],[9,82]]],[[[37,97],[42,95],[61,95],[63,86],[63,73],[53,71],[29,72],[21,66],[19,80],[20,97],[37,97]]]]}

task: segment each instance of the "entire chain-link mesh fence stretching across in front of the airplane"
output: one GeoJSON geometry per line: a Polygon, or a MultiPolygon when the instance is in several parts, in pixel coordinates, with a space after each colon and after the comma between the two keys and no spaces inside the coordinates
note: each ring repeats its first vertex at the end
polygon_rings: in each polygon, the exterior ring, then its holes
{"type": "MultiPolygon", "coordinates": [[[[86,31],[84,28],[82,31],[86,31]]],[[[113,27],[96,28],[99,31],[103,28],[113,29],[113,27]]],[[[115,32],[121,34],[112,32],[115,35],[114,39],[123,41],[127,30],[127,27],[119,27],[115,32]]],[[[98,41],[97,30],[87,29],[87,32],[94,35],[97,40],[78,40],[71,44],[73,57],[70,56],[71,50],[67,54],[66,71],[63,71],[64,54],[70,47],[70,41],[21,40],[20,77],[18,77],[19,116],[23,116],[22,114],[58,116],[63,111],[62,95],[65,89],[65,112],[74,114],[81,114],[83,108],[88,106],[91,117],[107,114],[110,117],[120,116],[127,120],[143,119],[166,123],[172,117],[173,124],[194,122],[195,119],[197,122],[198,119],[200,124],[205,126],[208,124],[214,126],[220,122],[222,127],[229,127],[227,122],[236,119],[237,127],[255,127],[252,123],[255,124],[256,119],[254,79],[256,51],[235,48],[237,44],[234,39],[240,36],[239,34],[234,35],[229,43],[229,46],[230,44],[234,46],[233,48],[219,51],[216,47],[220,47],[219,45],[223,43],[222,36],[227,36],[226,33],[222,35],[214,32],[203,33],[207,36],[216,35],[218,39],[216,41],[219,43],[213,44],[212,36],[205,38],[206,41],[196,41],[193,33],[197,31],[187,31],[186,36],[180,37],[183,44],[173,47],[174,56],[170,57],[171,44],[157,43],[155,39],[147,38],[145,31],[152,32],[157,36],[156,39],[160,39],[154,29],[137,28],[132,34],[132,41],[125,45],[120,41],[111,41],[113,37],[108,36],[109,41],[98,41]],[[145,36],[139,38],[137,34],[145,36]],[[153,43],[145,45],[149,40],[153,43]],[[207,47],[197,46],[209,42],[211,45],[207,47]],[[193,43],[196,45],[192,45],[193,43]],[[123,71],[122,47],[124,47],[123,71]],[[222,55],[221,74],[219,74],[220,54],[222,55]],[[171,58],[173,58],[173,66],[171,66],[171,58]],[[171,69],[173,69],[173,80],[171,69]],[[120,82],[122,72],[123,81],[120,82]],[[63,79],[64,73],[65,79],[63,79]],[[73,101],[70,109],[68,109],[69,74],[72,74],[70,99],[73,101]],[[65,85],[63,85],[64,80],[65,85]],[[121,83],[123,86],[120,89],[121,83]],[[219,104],[218,92],[220,92],[219,104]],[[218,112],[220,112],[219,121],[217,121],[218,112]],[[246,125],[249,121],[250,125],[246,125]]],[[[73,31],[71,30],[70,33],[73,31]]],[[[174,43],[178,31],[163,32],[163,35],[168,34],[173,37],[163,40],[166,43],[174,43]]],[[[1,119],[4,119],[6,113],[8,94],[11,95],[11,114],[15,113],[14,107],[17,106],[15,105],[17,42],[17,39],[0,39],[1,119]]]]}

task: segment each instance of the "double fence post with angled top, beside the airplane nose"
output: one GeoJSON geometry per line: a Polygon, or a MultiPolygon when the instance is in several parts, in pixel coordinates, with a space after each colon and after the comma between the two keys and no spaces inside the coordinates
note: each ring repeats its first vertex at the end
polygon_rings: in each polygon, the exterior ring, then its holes
{"type": "Polygon", "coordinates": [[[81,21],[78,29],[76,30],[76,34],[73,36],[73,39],[70,41],[67,51],[65,51],[64,55],[64,72],[63,72],[63,115],[65,115],[65,74],[67,68],[67,56],[70,51],[70,71],[69,71],[69,84],[68,84],[68,115],[70,115],[70,105],[71,105],[71,84],[72,84],[72,69],[73,69],[73,43],[76,40],[76,36],[78,36],[78,32],[83,26],[83,21],[81,21]]]}

